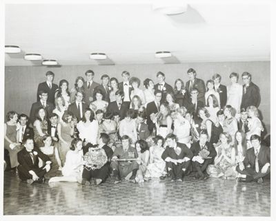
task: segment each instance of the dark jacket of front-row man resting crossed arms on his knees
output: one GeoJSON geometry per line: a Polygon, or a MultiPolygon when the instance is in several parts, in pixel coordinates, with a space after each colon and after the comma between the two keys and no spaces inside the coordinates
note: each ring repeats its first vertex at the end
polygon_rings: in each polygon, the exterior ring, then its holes
{"type": "Polygon", "coordinates": [[[166,149],[163,152],[161,158],[163,160],[165,160],[167,157],[170,157],[172,159],[179,160],[179,159],[183,159],[185,157],[188,157],[188,158],[190,158],[190,160],[192,160],[193,152],[190,149],[188,149],[188,147],[186,145],[184,145],[184,143],[178,143],[177,142],[177,147],[181,148],[181,153],[179,155],[177,155],[175,153],[175,149],[173,149],[172,147],[166,147],[166,149]]]}

